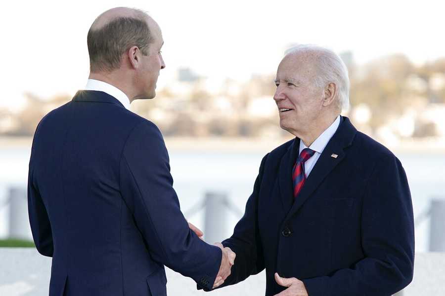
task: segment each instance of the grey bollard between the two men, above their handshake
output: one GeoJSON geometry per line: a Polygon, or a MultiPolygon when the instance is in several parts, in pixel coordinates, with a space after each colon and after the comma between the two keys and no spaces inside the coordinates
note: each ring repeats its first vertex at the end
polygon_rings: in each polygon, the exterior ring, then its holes
{"type": "Polygon", "coordinates": [[[227,223],[227,195],[224,192],[206,192],[204,238],[209,244],[225,239],[227,223]]]}

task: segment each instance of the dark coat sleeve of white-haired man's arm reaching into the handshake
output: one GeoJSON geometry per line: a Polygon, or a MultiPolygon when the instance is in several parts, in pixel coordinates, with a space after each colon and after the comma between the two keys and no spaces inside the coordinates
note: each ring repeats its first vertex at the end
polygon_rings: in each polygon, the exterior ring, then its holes
{"type": "Polygon", "coordinates": [[[265,268],[263,247],[258,228],[258,198],[267,155],[261,162],[260,172],[255,181],[253,192],[247,200],[243,217],[236,224],[233,235],[223,241],[223,246],[229,247],[235,252],[236,258],[230,276],[227,277],[221,287],[239,283],[265,268]]]}

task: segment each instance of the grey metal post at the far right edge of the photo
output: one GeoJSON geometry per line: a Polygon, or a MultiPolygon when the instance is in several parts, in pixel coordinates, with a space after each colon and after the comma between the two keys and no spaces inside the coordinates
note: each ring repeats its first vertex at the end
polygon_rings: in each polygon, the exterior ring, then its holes
{"type": "Polygon", "coordinates": [[[431,200],[430,251],[445,252],[445,199],[431,200]]]}

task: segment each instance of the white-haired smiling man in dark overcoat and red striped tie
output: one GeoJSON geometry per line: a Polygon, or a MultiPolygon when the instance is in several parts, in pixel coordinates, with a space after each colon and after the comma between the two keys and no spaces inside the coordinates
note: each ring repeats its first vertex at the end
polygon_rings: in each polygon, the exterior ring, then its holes
{"type": "Polygon", "coordinates": [[[389,296],[413,276],[411,196],[400,161],[347,117],[349,78],[331,50],[302,45],[278,66],[280,127],[244,216],[223,241],[223,286],[266,268],[266,296],[389,296]]]}

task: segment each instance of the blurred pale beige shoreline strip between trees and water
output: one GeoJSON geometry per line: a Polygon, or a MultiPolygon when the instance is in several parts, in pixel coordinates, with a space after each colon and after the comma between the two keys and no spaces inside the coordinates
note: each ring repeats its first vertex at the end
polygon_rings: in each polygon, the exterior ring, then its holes
{"type": "MultiPolygon", "coordinates": [[[[240,137],[165,137],[168,150],[181,151],[219,151],[219,152],[249,152],[264,151],[265,153],[291,140],[288,138],[240,138],[240,137]]],[[[5,137],[0,136],[1,148],[31,148],[32,137],[5,137]]],[[[380,141],[379,141],[380,142],[380,141]]],[[[445,154],[445,139],[426,138],[422,140],[401,140],[398,143],[383,143],[391,151],[428,152],[445,154]]]]}

